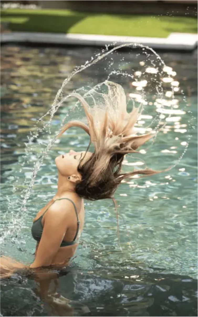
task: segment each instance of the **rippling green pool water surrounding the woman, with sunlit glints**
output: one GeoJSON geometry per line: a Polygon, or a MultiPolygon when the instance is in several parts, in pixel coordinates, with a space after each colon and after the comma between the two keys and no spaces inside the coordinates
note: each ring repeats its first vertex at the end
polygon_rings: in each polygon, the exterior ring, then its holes
{"type": "MultiPolygon", "coordinates": [[[[27,136],[35,131],[36,121],[50,109],[62,81],[76,65],[84,64],[98,52],[91,48],[22,46],[2,46],[0,52],[0,234],[3,236],[0,252],[30,263],[35,251],[30,234],[32,219],[56,191],[54,159],[57,153],[70,148],[85,150],[89,139],[83,131],[73,128],[53,145],[35,178],[27,211],[19,214],[21,195],[28,188],[36,155],[48,143],[45,130],[37,139],[32,138],[23,165],[27,136]]],[[[85,202],[86,223],[77,257],[71,273],[59,278],[59,293],[72,300],[76,316],[198,315],[198,52],[160,56],[175,72],[173,80],[180,87],[175,89],[170,118],[167,118],[169,110],[165,112],[166,117],[157,111],[161,109],[160,102],[165,101],[160,101],[156,94],[155,71],[152,77],[156,58],[135,50],[111,55],[113,68],[135,74],[137,80],[141,71],[143,79],[148,81],[145,87],[148,104],[139,127],[155,125],[151,121],[156,115],[161,126],[166,123],[155,141],[143,147],[145,154],[143,151],[135,158],[126,158],[124,170],[138,167],[142,160],[156,170],[175,167],[150,178],[121,184],[115,194],[119,205],[119,241],[112,201],[85,202]],[[148,71],[148,67],[152,69],[148,71]]],[[[99,61],[80,72],[64,88],[64,94],[106,80],[109,65],[109,60],[99,61]]],[[[128,97],[142,93],[131,77],[112,73],[110,80],[122,84],[128,97]]],[[[173,87],[177,88],[177,84],[173,87]]],[[[164,93],[168,91],[163,98],[171,102],[170,83],[163,81],[163,89],[164,93]]],[[[72,99],[68,100],[55,113],[52,136],[67,113],[68,119],[79,116],[80,108],[77,113],[69,111],[73,103],[72,99]]],[[[165,103],[164,108],[170,107],[165,103]]],[[[47,123],[49,116],[43,120],[47,123]]],[[[42,123],[38,125],[42,127],[42,123]]],[[[67,310],[52,313],[35,295],[34,284],[19,276],[0,281],[0,315],[72,316],[67,310]]]]}

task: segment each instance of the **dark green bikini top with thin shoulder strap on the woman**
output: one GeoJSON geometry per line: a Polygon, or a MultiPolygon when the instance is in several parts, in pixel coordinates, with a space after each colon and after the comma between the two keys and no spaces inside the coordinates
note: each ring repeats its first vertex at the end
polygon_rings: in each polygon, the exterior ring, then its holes
{"type": "MultiPolygon", "coordinates": [[[[75,213],[76,213],[76,218],[77,218],[77,230],[76,230],[76,234],[75,234],[75,237],[74,237],[73,241],[64,241],[63,240],[61,245],[60,245],[60,247],[67,247],[69,245],[73,245],[73,244],[77,243],[76,242],[76,238],[78,236],[80,221],[78,219],[78,213],[77,213],[76,206],[75,206],[74,202],[71,199],[69,199],[69,198],[56,199],[56,200],[54,200],[54,202],[51,205],[53,205],[55,203],[55,201],[62,200],[62,199],[67,199],[73,204],[73,207],[74,207],[74,210],[75,210],[75,213]]],[[[49,207],[51,207],[51,205],[49,205],[49,207]]],[[[37,220],[35,220],[33,222],[33,225],[32,225],[32,229],[31,229],[32,236],[38,242],[41,240],[41,236],[42,236],[42,232],[43,232],[42,218],[43,218],[44,214],[48,211],[49,207],[47,208],[47,210],[45,210],[45,212],[42,214],[41,217],[39,217],[37,220]]]]}

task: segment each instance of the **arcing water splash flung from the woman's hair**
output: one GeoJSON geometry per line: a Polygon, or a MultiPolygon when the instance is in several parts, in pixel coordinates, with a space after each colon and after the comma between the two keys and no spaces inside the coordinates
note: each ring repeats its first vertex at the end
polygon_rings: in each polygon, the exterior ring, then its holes
{"type": "MultiPolygon", "coordinates": [[[[8,202],[8,205],[9,205],[9,213],[11,212],[12,214],[12,221],[11,221],[11,224],[9,225],[8,228],[6,228],[7,230],[4,231],[4,234],[3,236],[1,237],[0,239],[0,243],[2,243],[5,239],[5,237],[7,235],[16,235],[20,232],[21,228],[22,228],[22,224],[23,224],[23,220],[22,220],[22,215],[24,214],[24,212],[27,210],[26,209],[26,204],[27,204],[27,201],[29,199],[29,196],[31,194],[31,190],[32,190],[32,187],[34,186],[34,183],[35,183],[35,178],[36,178],[36,175],[41,167],[41,165],[43,164],[43,160],[45,159],[48,151],[51,149],[51,147],[53,146],[54,142],[55,142],[55,139],[56,137],[53,137],[53,138],[50,138],[50,134],[51,134],[51,123],[52,123],[52,119],[53,119],[53,116],[54,114],[56,113],[56,111],[59,109],[59,107],[61,107],[61,105],[71,96],[71,95],[67,95],[66,97],[63,97],[63,90],[64,90],[64,87],[68,84],[68,82],[73,78],[74,75],[76,75],[77,73],[83,71],[84,69],[96,64],[98,61],[104,59],[106,56],[108,56],[109,54],[111,54],[113,51],[117,50],[117,49],[120,49],[120,48],[123,48],[123,47],[128,47],[128,46],[132,46],[132,48],[141,48],[143,49],[143,51],[145,52],[146,50],[149,50],[150,52],[152,52],[155,56],[156,56],[156,59],[157,61],[159,62],[159,66],[160,67],[163,67],[165,68],[166,65],[165,63],[163,62],[163,60],[160,58],[160,56],[151,48],[149,47],[145,47],[144,45],[141,45],[141,44],[122,44],[122,45],[119,45],[117,47],[114,47],[113,49],[110,49],[108,50],[109,48],[106,47],[105,50],[102,51],[102,54],[98,54],[96,55],[96,58],[92,58],[90,61],[87,61],[84,65],[81,65],[80,67],[77,67],[75,68],[75,70],[63,81],[62,83],[62,86],[61,88],[58,90],[56,96],[55,96],[55,99],[54,99],[54,102],[52,104],[52,107],[51,109],[46,113],[44,114],[38,121],[37,121],[37,124],[35,125],[35,131],[33,133],[30,133],[29,137],[28,137],[28,140],[29,142],[26,144],[26,155],[23,157],[23,162],[21,163],[22,166],[28,164],[28,161],[31,157],[31,153],[32,153],[32,140],[34,138],[38,138],[39,134],[42,133],[43,131],[47,132],[49,135],[48,135],[48,143],[45,147],[44,150],[41,151],[41,153],[37,154],[36,156],[36,159],[35,159],[35,164],[34,164],[34,169],[33,169],[33,172],[32,172],[32,177],[31,177],[31,180],[30,180],[30,183],[27,184],[27,182],[25,183],[25,185],[28,185],[27,188],[25,188],[22,193],[21,193],[21,198],[22,199],[16,199],[16,202],[13,203],[12,202],[8,202]],[[61,99],[62,98],[62,99],[61,99]],[[49,115],[49,121],[48,123],[43,123],[43,118],[45,116],[49,115]],[[43,123],[43,126],[42,127],[39,127],[38,124],[39,123],[43,123]],[[15,207],[16,205],[20,204],[20,210],[18,211],[17,214],[14,213],[15,211],[15,207]]],[[[149,55],[149,54],[148,54],[149,55]]],[[[155,66],[155,63],[154,62],[151,62],[153,68],[155,66]]],[[[109,64],[110,66],[113,65],[113,61],[110,62],[109,64]]],[[[131,80],[134,79],[134,75],[131,75],[131,74],[127,74],[125,72],[122,72],[122,71],[115,71],[113,70],[109,75],[108,75],[108,78],[107,79],[110,79],[110,76],[114,74],[114,75],[122,75],[122,76],[129,76],[131,78],[131,80]]],[[[169,78],[170,75],[168,75],[168,78],[169,78]]],[[[135,79],[135,82],[138,82],[137,79],[135,79]]],[[[100,85],[102,85],[102,83],[96,85],[95,87],[92,87],[90,90],[88,90],[85,94],[84,94],[84,97],[86,96],[90,96],[92,95],[92,93],[95,93],[96,92],[96,88],[100,87],[100,85]]],[[[137,86],[138,87],[138,86],[137,86]]],[[[139,86],[140,87],[140,86],[139,86]]],[[[143,87],[144,88],[144,87],[143,87]]],[[[156,86],[156,91],[159,95],[159,97],[163,97],[163,86],[162,86],[162,81],[159,81],[158,82],[158,85],[156,86]]],[[[142,96],[142,99],[140,101],[136,100],[137,102],[139,102],[140,104],[143,103],[143,100],[144,100],[144,89],[142,90],[142,93],[143,93],[143,96],[142,96]]],[[[172,94],[173,98],[174,98],[174,94],[172,94]]],[[[134,103],[134,97],[131,97],[132,99],[132,102],[134,103]]],[[[79,105],[79,103],[77,102],[74,106],[77,107],[79,105]]],[[[164,108],[164,105],[162,104],[162,109],[164,108]]],[[[172,109],[172,105],[171,105],[171,109],[172,109]]],[[[160,116],[161,114],[159,113],[158,114],[158,117],[160,116]]],[[[171,112],[169,112],[169,116],[171,116],[171,112]]],[[[68,117],[68,114],[65,116],[65,118],[62,120],[62,125],[64,123],[64,121],[67,119],[68,117]]],[[[166,122],[164,122],[163,126],[161,125],[160,126],[160,122],[159,122],[159,118],[157,116],[152,120],[151,124],[149,126],[147,126],[146,129],[148,129],[153,123],[155,123],[156,121],[158,121],[158,124],[156,126],[156,131],[158,132],[159,131],[159,127],[160,129],[163,129],[165,126],[166,126],[166,122]]],[[[58,134],[58,133],[57,133],[58,134]]],[[[56,134],[56,135],[57,135],[56,134]]],[[[182,156],[184,155],[184,153],[186,152],[187,150],[187,147],[188,147],[188,143],[185,147],[185,150],[183,151],[182,153],[182,156]]],[[[181,158],[182,158],[181,156],[181,158]]],[[[178,161],[181,159],[179,158],[178,161]]],[[[176,163],[177,164],[177,163],[176,163]]],[[[176,164],[174,166],[176,166],[176,164]]],[[[22,172],[22,171],[21,171],[22,172]]],[[[19,187],[17,187],[17,178],[15,178],[15,184],[13,185],[13,192],[16,192],[16,191],[19,191],[19,187]]],[[[5,216],[6,217],[6,214],[5,216]]],[[[17,241],[17,239],[16,239],[17,241]]]]}

